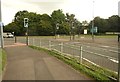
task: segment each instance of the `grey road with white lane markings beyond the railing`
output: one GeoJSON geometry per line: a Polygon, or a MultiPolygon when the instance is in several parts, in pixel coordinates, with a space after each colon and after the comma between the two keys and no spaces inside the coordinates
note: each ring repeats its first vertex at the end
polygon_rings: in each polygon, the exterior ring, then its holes
{"type": "MultiPolygon", "coordinates": [[[[11,39],[13,40],[13,39],[11,39]]],[[[90,42],[87,40],[85,42],[85,38],[82,41],[66,41],[66,40],[58,40],[53,38],[38,38],[38,37],[30,37],[29,44],[35,46],[44,46],[46,48],[52,48],[61,51],[61,42],[63,42],[63,53],[71,54],[74,56],[80,56],[80,46],[82,46],[82,57],[83,59],[87,59],[90,62],[93,62],[99,66],[108,68],[115,72],[118,71],[118,44],[114,39],[107,38],[107,44],[105,44],[106,39],[98,39],[97,42],[90,42]],[[51,42],[49,42],[49,40],[51,42]],[[101,41],[99,41],[101,40],[101,41]],[[104,43],[103,43],[104,42],[104,43]],[[115,42],[115,43],[113,43],[115,42]],[[51,46],[50,46],[51,45],[51,46]]],[[[18,42],[26,43],[25,37],[17,38],[18,42]]],[[[97,41],[97,40],[96,40],[97,41]]]]}

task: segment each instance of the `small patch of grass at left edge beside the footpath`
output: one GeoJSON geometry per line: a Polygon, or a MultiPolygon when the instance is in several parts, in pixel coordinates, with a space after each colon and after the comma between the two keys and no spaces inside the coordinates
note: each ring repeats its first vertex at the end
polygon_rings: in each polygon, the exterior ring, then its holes
{"type": "Polygon", "coordinates": [[[7,56],[4,50],[0,49],[0,61],[2,61],[0,63],[0,73],[2,73],[2,71],[4,70],[6,61],[7,61],[7,56]]]}

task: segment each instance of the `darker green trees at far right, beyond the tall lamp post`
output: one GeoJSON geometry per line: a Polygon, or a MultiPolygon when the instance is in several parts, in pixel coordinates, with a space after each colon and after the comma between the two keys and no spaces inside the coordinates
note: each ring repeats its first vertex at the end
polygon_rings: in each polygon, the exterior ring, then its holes
{"type": "MultiPolygon", "coordinates": [[[[108,19],[103,19],[100,17],[94,18],[94,27],[98,27],[98,33],[106,32],[120,32],[120,17],[118,15],[113,15],[108,19]]],[[[89,24],[89,29],[91,29],[92,21],[89,24]]]]}

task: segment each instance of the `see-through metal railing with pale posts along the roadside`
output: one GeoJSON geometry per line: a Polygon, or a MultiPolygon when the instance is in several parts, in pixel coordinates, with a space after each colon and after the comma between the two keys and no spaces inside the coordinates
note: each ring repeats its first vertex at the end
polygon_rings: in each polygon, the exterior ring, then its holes
{"type": "MultiPolygon", "coordinates": [[[[17,40],[23,43],[26,42],[25,38],[18,38],[17,40]]],[[[79,42],[61,42],[48,38],[29,38],[29,45],[43,47],[50,50],[56,50],[60,53],[78,59],[80,63],[84,63],[83,61],[87,61],[94,65],[112,70],[116,73],[118,71],[118,53],[114,50],[88,46],[79,42]]]]}

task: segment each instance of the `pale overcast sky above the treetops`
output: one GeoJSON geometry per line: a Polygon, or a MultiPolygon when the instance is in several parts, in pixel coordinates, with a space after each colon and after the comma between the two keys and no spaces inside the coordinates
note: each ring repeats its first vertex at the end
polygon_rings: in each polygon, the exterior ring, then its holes
{"type": "Polygon", "coordinates": [[[94,17],[108,18],[118,15],[120,0],[1,0],[2,22],[6,25],[18,11],[27,10],[37,14],[51,15],[54,10],[75,14],[79,21],[90,21],[94,17]]]}

